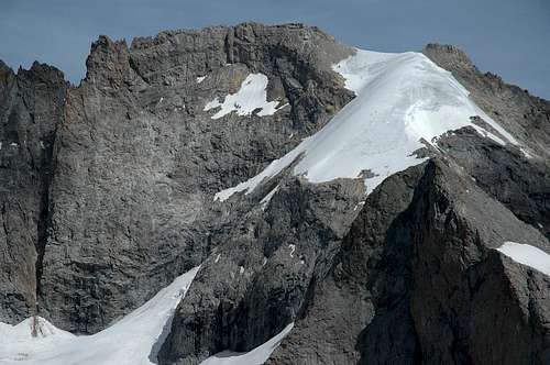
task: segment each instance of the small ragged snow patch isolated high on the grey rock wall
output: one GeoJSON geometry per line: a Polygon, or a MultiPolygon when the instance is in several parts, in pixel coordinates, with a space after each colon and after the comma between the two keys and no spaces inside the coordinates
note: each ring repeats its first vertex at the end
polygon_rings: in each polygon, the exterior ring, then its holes
{"type": "Polygon", "coordinates": [[[238,115],[250,115],[256,109],[260,111],[257,115],[273,115],[278,109],[278,101],[267,101],[267,76],[263,74],[250,74],[241,84],[241,88],[237,93],[226,96],[221,102],[218,98],[208,102],[205,106],[205,111],[220,108],[212,115],[212,119],[219,119],[231,112],[237,112],[238,115]]]}

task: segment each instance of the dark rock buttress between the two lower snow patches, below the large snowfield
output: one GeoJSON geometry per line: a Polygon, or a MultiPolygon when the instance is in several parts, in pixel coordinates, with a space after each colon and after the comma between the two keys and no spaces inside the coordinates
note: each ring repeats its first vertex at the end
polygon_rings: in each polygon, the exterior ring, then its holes
{"type": "Polygon", "coordinates": [[[288,178],[266,206],[233,215],[230,231],[212,236],[224,243],[176,311],[162,363],[198,364],[226,349],[250,351],[301,316],[363,196],[359,179],[314,185],[288,178]]]}

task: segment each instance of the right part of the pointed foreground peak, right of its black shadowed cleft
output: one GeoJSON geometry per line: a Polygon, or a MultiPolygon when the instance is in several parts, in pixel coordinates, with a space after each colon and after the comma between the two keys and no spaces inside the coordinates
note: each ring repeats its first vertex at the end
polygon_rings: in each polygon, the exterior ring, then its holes
{"type": "Polygon", "coordinates": [[[550,243],[450,168],[428,165],[416,208],[410,310],[422,363],[544,364],[548,278],[517,291],[532,270],[493,248],[514,241],[550,252],[550,243]]]}

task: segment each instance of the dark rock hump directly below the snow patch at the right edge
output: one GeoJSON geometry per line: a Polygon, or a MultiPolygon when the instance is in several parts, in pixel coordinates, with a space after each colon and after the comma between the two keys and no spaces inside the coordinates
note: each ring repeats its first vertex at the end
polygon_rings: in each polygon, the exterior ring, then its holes
{"type": "Polygon", "coordinates": [[[469,274],[472,362],[491,358],[495,364],[548,364],[548,276],[495,251],[469,274]]]}

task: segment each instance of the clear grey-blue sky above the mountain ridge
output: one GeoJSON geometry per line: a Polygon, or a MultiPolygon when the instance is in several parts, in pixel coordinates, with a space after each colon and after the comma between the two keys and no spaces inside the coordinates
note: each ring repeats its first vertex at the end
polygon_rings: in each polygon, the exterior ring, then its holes
{"type": "Polygon", "coordinates": [[[75,84],[99,34],[304,22],[372,51],[454,44],[482,70],[550,99],[550,0],[0,0],[0,59],[38,59],[75,84]]]}

